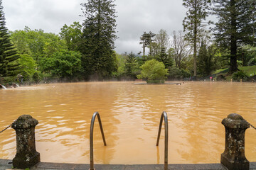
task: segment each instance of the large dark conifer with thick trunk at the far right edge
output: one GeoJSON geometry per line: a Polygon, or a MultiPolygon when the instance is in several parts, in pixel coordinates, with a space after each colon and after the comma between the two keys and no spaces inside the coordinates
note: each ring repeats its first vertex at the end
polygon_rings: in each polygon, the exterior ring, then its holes
{"type": "Polygon", "coordinates": [[[253,0],[213,0],[217,15],[215,39],[230,50],[230,73],[238,71],[238,47],[255,42],[256,2],[253,0]]]}

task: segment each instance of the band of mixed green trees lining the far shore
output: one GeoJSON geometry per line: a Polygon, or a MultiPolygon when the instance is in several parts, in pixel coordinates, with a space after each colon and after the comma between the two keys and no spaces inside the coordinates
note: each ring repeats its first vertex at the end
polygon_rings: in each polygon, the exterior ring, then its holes
{"type": "Polygon", "coordinates": [[[163,63],[169,79],[207,77],[222,68],[233,74],[239,66],[256,64],[253,0],[183,0],[188,9],[183,30],[144,32],[138,38],[142,51],[123,54],[114,52],[114,0],[81,6],[84,22],[63,26],[59,35],[28,27],[9,32],[0,0],[0,84],[21,81],[17,75],[24,83],[132,80],[146,74],[142,68],[149,60],[163,63]],[[210,15],[218,21],[208,21],[210,15]]]}

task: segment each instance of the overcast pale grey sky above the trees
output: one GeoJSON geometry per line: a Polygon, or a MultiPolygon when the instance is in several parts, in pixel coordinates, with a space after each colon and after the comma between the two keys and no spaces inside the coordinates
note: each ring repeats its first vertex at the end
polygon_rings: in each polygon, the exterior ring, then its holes
{"type": "MultiPolygon", "coordinates": [[[[43,29],[60,33],[64,24],[80,21],[80,6],[87,0],[2,0],[9,30],[43,29]]],[[[174,30],[183,30],[182,21],[186,8],[182,0],[116,0],[117,36],[116,51],[139,52],[139,37],[144,31],[158,33],[164,29],[171,35],[174,30]]]]}

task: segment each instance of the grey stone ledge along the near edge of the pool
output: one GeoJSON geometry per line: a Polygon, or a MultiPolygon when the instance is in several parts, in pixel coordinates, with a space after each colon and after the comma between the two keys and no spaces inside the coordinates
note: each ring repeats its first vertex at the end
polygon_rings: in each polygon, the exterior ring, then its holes
{"type": "MultiPolygon", "coordinates": [[[[12,160],[0,159],[0,170],[11,169],[12,160]]],[[[40,162],[33,166],[31,170],[87,170],[90,169],[90,164],[59,164],[40,162]]],[[[95,164],[96,170],[161,170],[164,169],[163,164],[142,164],[142,165],[109,165],[109,164],[95,164]]],[[[169,169],[174,170],[226,170],[221,164],[169,164],[169,169]]],[[[250,163],[250,170],[256,170],[256,162],[250,163]]]]}

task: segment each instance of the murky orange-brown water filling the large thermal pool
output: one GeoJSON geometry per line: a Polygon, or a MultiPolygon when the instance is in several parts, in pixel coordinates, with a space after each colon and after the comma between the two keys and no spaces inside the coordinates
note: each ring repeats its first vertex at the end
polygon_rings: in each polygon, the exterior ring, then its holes
{"type": "MultiPolygon", "coordinates": [[[[0,130],[30,114],[42,162],[90,163],[89,130],[99,111],[107,146],[95,121],[95,164],[164,164],[164,130],[156,137],[162,111],[169,119],[169,163],[218,163],[224,151],[221,120],[239,113],[256,125],[256,84],[185,82],[133,85],[132,82],[46,84],[0,90],[0,130]]],[[[164,128],[164,126],[163,126],[164,128]]],[[[256,161],[256,130],[246,131],[245,155],[256,161]]],[[[0,158],[13,159],[13,129],[0,134],[0,158]]]]}

